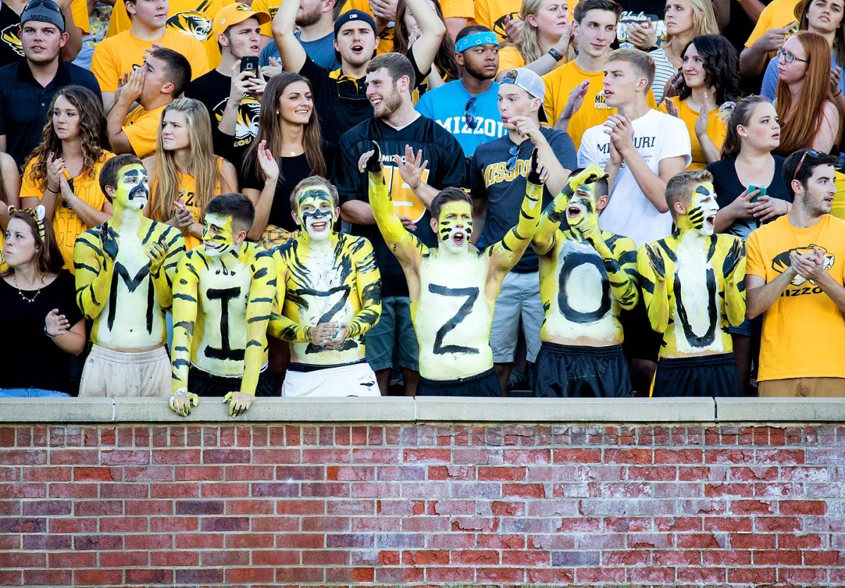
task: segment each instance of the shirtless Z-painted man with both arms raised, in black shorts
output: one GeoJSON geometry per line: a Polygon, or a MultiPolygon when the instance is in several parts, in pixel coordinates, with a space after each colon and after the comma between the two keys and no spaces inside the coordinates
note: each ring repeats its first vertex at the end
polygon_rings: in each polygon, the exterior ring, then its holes
{"type": "Polygon", "coordinates": [[[368,172],[369,201],[384,241],[402,266],[411,298],[411,318],[420,349],[417,395],[500,396],[493,370],[490,324],[504,276],[525,253],[540,218],[542,184],[548,172],[532,155],[520,221],[482,251],[470,245],[472,199],[445,188],[431,204],[431,226],[439,236],[428,248],[405,230],[384,181],[378,144],[358,161],[368,172]]]}

